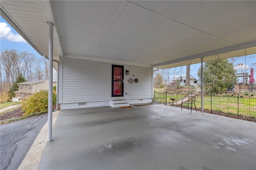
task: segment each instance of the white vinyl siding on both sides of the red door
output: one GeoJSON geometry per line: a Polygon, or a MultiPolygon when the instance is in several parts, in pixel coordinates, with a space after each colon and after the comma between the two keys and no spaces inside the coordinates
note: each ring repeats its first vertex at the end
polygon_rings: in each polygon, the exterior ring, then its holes
{"type": "MultiPolygon", "coordinates": [[[[64,57],[62,70],[62,104],[113,100],[114,98],[111,97],[112,64],[116,63],[64,57]]],[[[151,67],[124,65],[124,99],[152,99],[151,67]],[[130,71],[129,75],[125,74],[125,70],[130,71]],[[134,77],[132,74],[134,74],[134,77]],[[138,83],[128,83],[127,80],[129,78],[138,78],[138,83]],[[126,95],[125,93],[128,94],[126,95]]]]}

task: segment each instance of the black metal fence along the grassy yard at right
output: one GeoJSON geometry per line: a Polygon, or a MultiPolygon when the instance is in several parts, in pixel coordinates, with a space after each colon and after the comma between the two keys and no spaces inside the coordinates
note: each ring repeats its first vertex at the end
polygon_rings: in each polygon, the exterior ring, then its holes
{"type": "MultiPolygon", "coordinates": [[[[154,102],[172,106],[181,106],[182,98],[196,96],[196,108],[201,109],[201,92],[192,90],[154,91],[154,102]]],[[[203,94],[204,111],[208,113],[226,114],[230,117],[256,118],[255,92],[221,92],[203,94]]]]}

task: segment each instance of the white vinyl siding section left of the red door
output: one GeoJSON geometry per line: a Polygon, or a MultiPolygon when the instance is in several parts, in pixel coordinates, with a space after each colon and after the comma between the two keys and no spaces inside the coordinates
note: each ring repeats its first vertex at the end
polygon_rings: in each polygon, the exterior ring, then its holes
{"type": "Polygon", "coordinates": [[[110,100],[111,64],[63,59],[62,103],[110,100]]]}

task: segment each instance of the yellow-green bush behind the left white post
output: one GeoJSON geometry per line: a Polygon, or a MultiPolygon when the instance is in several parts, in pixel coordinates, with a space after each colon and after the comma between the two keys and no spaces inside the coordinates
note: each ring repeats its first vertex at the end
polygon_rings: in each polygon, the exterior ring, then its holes
{"type": "MultiPolygon", "coordinates": [[[[56,93],[52,94],[52,104],[56,104],[56,93]]],[[[36,112],[48,111],[48,90],[41,90],[22,101],[22,111],[24,116],[36,112]]]]}

